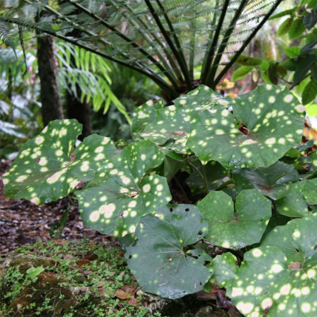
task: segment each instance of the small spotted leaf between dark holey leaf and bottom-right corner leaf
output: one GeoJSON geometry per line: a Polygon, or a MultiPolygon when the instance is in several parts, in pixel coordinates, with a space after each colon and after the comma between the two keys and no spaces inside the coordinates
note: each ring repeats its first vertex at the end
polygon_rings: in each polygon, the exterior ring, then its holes
{"type": "Polygon", "coordinates": [[[232,285],[236,277],[238,268],[236,261],[237,259],[232,253],[226,252],[217,255],[211,263],[212,276],[209,284],[226,288],[226,296],[228,297],[231,297],[232,285]]]}

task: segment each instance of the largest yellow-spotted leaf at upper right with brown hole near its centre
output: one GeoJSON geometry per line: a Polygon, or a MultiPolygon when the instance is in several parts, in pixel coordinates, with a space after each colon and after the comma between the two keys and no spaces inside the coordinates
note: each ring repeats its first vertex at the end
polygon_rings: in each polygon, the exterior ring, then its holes
{"type": "Polygon", "coordinates": [[[267,167],[301,143],[303,117],[298,100],[286,87],[259,86],[233,103],[233,114],[220,106],[198,113],[187,146],[204,163],[225,168],[267,167]],[[236,119],[247,127],[240,132],[236,119]]]}

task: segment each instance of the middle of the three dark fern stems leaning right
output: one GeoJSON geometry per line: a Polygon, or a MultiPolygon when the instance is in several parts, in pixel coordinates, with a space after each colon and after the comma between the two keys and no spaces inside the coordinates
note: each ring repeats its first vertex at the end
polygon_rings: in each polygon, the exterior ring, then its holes
{"type": "Polygon", "coordinates": [[[231,36],[231,33],[232,33],[232,31],[233,31],[233,29],[234,29],[234,27],[236,25],[237,20],[239,19],[239,16],[240,16],[241,12],[243,11],[244,7],[246,6],[247,2],[248,2],[247,0],[241,1],[238,9],[236,10],[235,15],[233,16],[233,18],[232,18],[232,20],[230,22],[229,28],[227,29],[227,31],[225,32],[225,34],[223,36],[223,39],[222,39],[221,44],[220,44],[220,46],[218,48],[217,54],[215,56],[215,59],[214,59],[214,61],[212,63],[212,66],[211,66],[211,68],[210,68],[210,70],[208,72],[207,78],[206,78],[206,84],[208,86],[211,86],[211,85],[213,87],[216,86],[216,84],[214,85],[214,77],[215,77],[217,68],[219,66],[219,62],[221,60],[223,51],[224,51],[224,49],[227,46],[227,43],[228,43],[229,38],[231,36]]]}

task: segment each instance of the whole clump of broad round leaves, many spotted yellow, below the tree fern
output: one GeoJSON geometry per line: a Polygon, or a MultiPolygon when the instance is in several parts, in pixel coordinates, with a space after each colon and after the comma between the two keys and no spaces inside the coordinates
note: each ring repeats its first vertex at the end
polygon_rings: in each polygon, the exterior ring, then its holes
{"type": "Polygon", "coordinates": [[[55,120],[22,146],[5,193],[35,204],[74,193],[86,226],[121,239],[146,292],[218,285],[245,316],[312,316],[317,156],[301,144],[300,110],[283,86],[233,100],[201,85],[137,108],[123,149],[98,135],[74,149],[81,125],[55,120]],[[173,181],[186,204],[173,203],[173,181]]]}

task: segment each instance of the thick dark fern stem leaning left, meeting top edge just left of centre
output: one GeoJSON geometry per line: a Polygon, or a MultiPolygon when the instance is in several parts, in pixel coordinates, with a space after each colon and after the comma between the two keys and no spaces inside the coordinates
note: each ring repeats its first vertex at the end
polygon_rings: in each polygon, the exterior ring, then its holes
{"type": "Polygon", "coordinates": [[[186,82],[186,86],[188,88],[188,90],[191,90],[191,81],[190,81],[190,77],[188,74],[188,69],[187,69],[187,65],[186,63],[184,63],[183,59],[181,58],[181,55],[179,54],[178,50],[175,48],[173,42],[171,41],[169,35],[166,33],[166,30],[164,29],[164,26],[162,25],[158,14],[155,12],[150,0],[144,0],[147,7],[149,8],[156,24],[158,25],[160,31],[162,32],[162,35],[165,38],[165,41],[167,42],[167,44],[169,45],[169,47],[171,48],[175,58],[178,61],[178,65],[180,67],[180,69],[182,70],[183,76],[184,76],[184,80],[186,82]]]}

